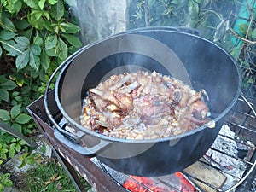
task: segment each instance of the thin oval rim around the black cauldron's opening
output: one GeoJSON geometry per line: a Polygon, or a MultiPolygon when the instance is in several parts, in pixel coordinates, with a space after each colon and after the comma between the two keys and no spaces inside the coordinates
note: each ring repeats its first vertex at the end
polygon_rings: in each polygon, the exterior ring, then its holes
{"type": "MultiPolygon", "coordinates": [[[[171,27],[172,28],[172,27],[171,27]]],[[[168,27],[150,27],[149,30],[152,30],[153,32],[158,32],[159,30],[161,31],[166,31],[166,32],[170,32],[168,27]]],[[[100,44],[102,41],[108,40],[108,38],[114,38],[117,36],[123,36],[125,34],[129,34],[130,32],[134,32],[134,31],[140,31],[140,32],[148,32],[148,28],[142,28],[142,29],[136,29],[136,30],[131,30],[128,32],[121,32],[119,34],[107,37],[107,38],[102,38],[100,40],[97,40],[96,42],[86,45],[83,48],[79,49],[78,51],[76,51],[73,55],[69,56],[67,58],[66,61],[64,61],[65,66],[61,69],[61,73],[59,74],[59,78],[56,81],[55,84],[55,102],[57,103],[57,107],[60,109],[61,113],[63,114],[64,118],[67,119],[67,121],[71,124],[76,126],[77,128],[79,128],[80,131],[84,131],[88,134],[90,134],[93,137],[99,137],[101,139],[104,140],[108,140],[111,142],[122,142],[122,143],[159,143],[159,142],[166,142],[166,141],[172,141],[172,140],[177,140],[177,139],[181,139],[182,137],[188,137],[189,135],[193,135],[197,132],[203,131],[204,129],[207,129],[207,125],[201,125],[200,127],[197,127],[196,129],[192,130],[192,131],[187,131],[183,134],[179,134],[179,135],[175,135],[175,136],[169,136],[169,137],[161,137],[161,138],[155,138],[155,139],[124,139],[124,138],[118,138],[118,137],[108,137],[106,135],[103,135],[101,133],[97,133],[95,131],[91,131],[90,129],[84,128],[83,125],[80,125],[79,123],[77,123],[73,118],[71,118],[64,110],[64,108],[62,108],[61,105],[61,101],[59,99],[58,96],[58,86],[60,84],[61,81],[61,76],[63,75],[63,73],[66,72],[67,68],[69,67],[70,64],[72,64],[72,61],[79,56],[81,53],[83,53],[86,49],[90,49],[92,46],[95,46],[96,44],[100,44]],[[140,31],[141,30],[141,31],[140,31]]],[[[234,58],[222,47],[220,47],[218,44],[214,44],[212,43],[212,41],[206,39],[206,38],[202,38],[200,36],[197,36],[195,34],[191,34],[188,32],[176,32],[176,31],[172,31],[175,33],[183,33],[183,35],[187,35],[187,36],[191,36],[194,38],[199,38],[203,41],[207,41],[208,43],[214,45],[216,48],[221,49],[221,51],[223,51],[226,55],[228,55],[230,57],[230,60],[234,63],[234,66],[236,67],[236,73],[238,76],[238,85],[237,85],[237,90],[236,90],[236,95],[233,97],[232,101],[230,102],[229,106],[227,108],[224,109],[224,111],[222,113],[219,113],[218,116],[214,119],[212,119],[214,122],[218,122],[220,119],[223,119],[224,116],[230,112],[230,109],[233,108],[233,106],[236,103],[236,100],[238,98],[238,96],[240,96],[241,93],[241,74],[239,73],[239,69],[236,66],[236,61],[234,60],[234,58]]],[[[208,128],[208,129],[212,129],[212,128],[208,128]]],[[[214,128],[213,128],[214,129],[214,128]]]]}

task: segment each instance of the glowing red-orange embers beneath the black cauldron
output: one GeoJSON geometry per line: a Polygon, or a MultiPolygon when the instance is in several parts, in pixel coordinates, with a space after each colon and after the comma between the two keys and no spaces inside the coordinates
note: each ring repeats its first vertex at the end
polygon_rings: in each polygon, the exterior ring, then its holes
{"type": "MultiPolygon", "coordinates": [[[[180,190],[182,192],[196,192],[189,181],[183,177],[181,172],[176,172],[175,176],[180,179],[180,190]]],[[[176,190],[161,188],[156,185],[150,178],[130,176],[131,178],[126,180],[124,187],[132,192],[177,192],[176,190]]]]}

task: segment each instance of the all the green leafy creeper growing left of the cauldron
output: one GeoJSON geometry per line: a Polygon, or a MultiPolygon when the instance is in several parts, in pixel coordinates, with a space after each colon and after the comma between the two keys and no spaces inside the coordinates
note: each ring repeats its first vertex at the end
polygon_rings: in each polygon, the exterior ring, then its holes
{"type": "MultiPolygon", "coordinates": [[[[26,106],[44,94],[51,73],[82,45],[79,30],[63,0],[0,0],[3,122],[26,136],[34,134],[36,126],[26,106]]],[[[20,151],[28,152],[19,138],[1,130],[0,136],[0,164],[20,151]]],[[[32,163],[33,158],[23,155],[22,162],[32,163]]]]}

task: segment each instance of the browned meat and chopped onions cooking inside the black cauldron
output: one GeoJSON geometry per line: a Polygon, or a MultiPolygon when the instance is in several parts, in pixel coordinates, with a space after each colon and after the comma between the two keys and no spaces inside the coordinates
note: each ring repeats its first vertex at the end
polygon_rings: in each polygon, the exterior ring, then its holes
{"type": "Polygon", "coordinates": [[[113,75],[88,91],[81,124],[126,139],[182,134],[211,120],[204,92],[156,72],[113,75]]]}

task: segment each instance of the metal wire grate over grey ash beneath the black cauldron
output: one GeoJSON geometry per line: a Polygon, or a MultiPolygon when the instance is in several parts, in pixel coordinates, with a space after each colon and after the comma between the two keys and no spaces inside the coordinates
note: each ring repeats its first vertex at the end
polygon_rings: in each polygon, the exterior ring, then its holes
{"type": "MultiPolygon", "coordinates": [[[[248,191],[251,187],[256,173],[256,113],[253,107],[253,103],[241,95],[231,112],[230,119],[224,123],[215,143],[212,144],[204,158],[197,161],[197,163],[206,165],[225,177],[221,186],[208,183],[206,180],[193,175],[193,172],[188,174],[188,172],[183,171],[183,176],[195,186],[197,191],[230,192],[245,191],[244,189],[248,191]],[[224,160],[222,161],[222,159],[224,160]],[[201,188],[201,186],[206,187],[201,188]]],[[[120,186],[127,179],[131,179],[145,191],[154,191],[134,177],[116,172],[97,160],[93,161],[120,186]]],[[[161,189],[165,189],[164,191],[181,191],[173,183],[173,175],[149,179],[161,189]]],[[[127,189],[127,191],[129,190],[127,189]]]]}

